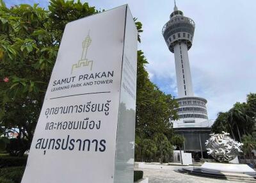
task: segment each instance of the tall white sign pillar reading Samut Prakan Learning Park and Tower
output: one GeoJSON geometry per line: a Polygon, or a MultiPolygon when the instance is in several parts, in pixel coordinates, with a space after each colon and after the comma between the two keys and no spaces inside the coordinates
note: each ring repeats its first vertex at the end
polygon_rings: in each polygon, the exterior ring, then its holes
{"type": "Polygon", "coordinates": [[[127,5],[67,24],[22,183],[133,182],[136,51],[127,5]]]}

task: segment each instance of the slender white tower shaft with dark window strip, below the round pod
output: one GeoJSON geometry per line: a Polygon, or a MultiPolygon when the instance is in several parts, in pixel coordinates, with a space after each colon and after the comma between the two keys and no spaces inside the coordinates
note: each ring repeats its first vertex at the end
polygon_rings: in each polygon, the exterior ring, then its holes
{"type": "Polygon", "coordinates": [[[178,97],[193,97],[193,86],[188,59],[188,47],[184,42],[177,42],[174,47],[175,69],[178,97]]]}

